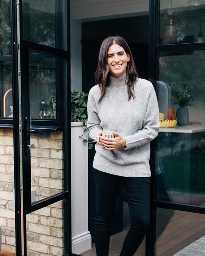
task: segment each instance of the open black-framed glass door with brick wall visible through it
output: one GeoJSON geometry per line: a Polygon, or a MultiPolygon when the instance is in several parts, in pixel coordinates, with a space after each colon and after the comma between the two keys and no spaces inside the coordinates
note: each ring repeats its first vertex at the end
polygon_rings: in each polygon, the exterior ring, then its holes
{"type": "Polygon", "coordinates": [[[16,255],[72,255],[68,13],[12,2],[16,255]]]}

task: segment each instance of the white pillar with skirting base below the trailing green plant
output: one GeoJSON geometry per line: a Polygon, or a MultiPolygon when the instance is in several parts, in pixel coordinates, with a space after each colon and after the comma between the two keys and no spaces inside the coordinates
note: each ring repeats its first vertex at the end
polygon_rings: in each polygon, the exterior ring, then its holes
{"type": "MultiPolygon", "coordinates": [[[[91,248],[88,231],[88,144],[79,138],[82,122],[71,123],[72,253],[91,248]]],[[[83,135],[87,138],[87,134],[83,135]]]]}

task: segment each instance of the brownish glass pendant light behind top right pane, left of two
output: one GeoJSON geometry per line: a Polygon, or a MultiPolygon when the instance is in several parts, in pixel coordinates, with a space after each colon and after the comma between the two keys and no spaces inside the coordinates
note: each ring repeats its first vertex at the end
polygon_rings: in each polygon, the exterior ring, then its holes
{"type": "Polygon", "coordinates": [[[164,29],[163,43],[164,44],[174,44],[177,43],[177,28],[173,25],[172,21],[172,0],[171,0],[171,15],[170,15],[170,25],[166,26],[164,29]]]}

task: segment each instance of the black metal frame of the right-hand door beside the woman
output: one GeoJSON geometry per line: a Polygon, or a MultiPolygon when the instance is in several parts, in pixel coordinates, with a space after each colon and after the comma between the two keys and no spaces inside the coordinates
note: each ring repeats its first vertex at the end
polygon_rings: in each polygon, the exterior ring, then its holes
{"type": "MultiPolygon", "coordinates": [[[[159,16],[160,16],[160,0],[150,0],[149,11],[149,67],[148,79],[154,85],[156,90],[157,74],[158,74],[158,60],[159,52],[176,52],[176,51],[194,51],[205,50],[205,42],[202,43],[183,43],[158,45],[157,39],[159,34],[159,16]]],[[[154,256],[154,244],[156,240],[156,211],[157,207],[187,211],[192,213],[205,214],[205,207],[195,206],[189,204],[172,203],[165,201],[157,201],[156,195],[156,177],[155,177],[155,152],[156,139],[151,143],[151,227],[146,235],[146,256],[154,256]]]]}

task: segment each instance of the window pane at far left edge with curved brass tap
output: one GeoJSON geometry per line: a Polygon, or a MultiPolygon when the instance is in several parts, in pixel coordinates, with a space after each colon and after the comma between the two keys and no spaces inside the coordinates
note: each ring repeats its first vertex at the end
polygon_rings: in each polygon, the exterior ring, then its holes
{"type": "Polygon", "coordinates": [[[12,62],[0,62],[0,117],[13,117],[12,62]]]}

